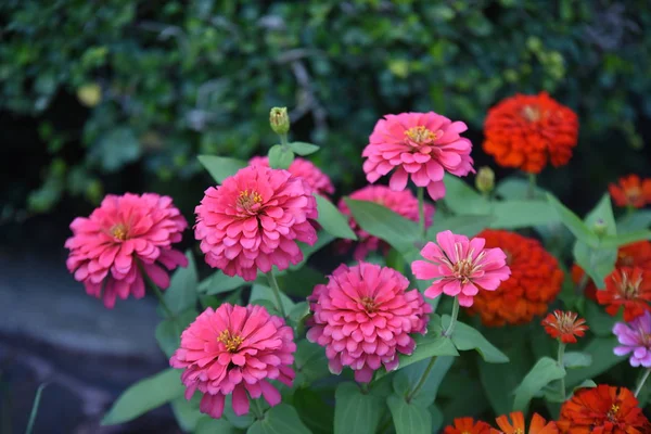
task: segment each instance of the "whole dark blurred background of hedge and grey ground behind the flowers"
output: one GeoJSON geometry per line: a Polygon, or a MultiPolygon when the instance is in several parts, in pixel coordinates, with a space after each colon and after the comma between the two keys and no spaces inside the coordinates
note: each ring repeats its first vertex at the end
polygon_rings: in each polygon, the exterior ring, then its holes
{"type": "MultiPolygon", "coordinates": [[[[67,275],[67,225],[126,191],[170,194],[192,221],[210,183],[195,155],[265,153],[271,106],[322,146],[336,197],[365,183],[386,113],[464,120],[476,167],[510,175],[481,151],[483,119],[541,90],[580,118],[544,187],[584,213],[617,177],[651,176],[644,0],[4,0],[0,23],[0,430],[22,432],[51,381],[36,432],[100,432],[119,391],[165,366],[153,301],[108,311],[67,275]]],[[[167,418],[103,430],[174,432],[167,418]]]]}

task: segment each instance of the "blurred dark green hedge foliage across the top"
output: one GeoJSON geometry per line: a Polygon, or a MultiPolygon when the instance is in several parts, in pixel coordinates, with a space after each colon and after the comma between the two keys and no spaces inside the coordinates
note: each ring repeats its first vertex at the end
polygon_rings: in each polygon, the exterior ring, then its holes
{"type": "Polygon", "coordinates": [[[434,110],[480,131],[486,110],[514,92],[547,90],[578,111],[582,142],[615,129],[640,148],[636,125],[651,117],[647,7],[5,0],[0,110],[40,119],[50,165],[33,210],[65,192],[95,202],[103,178],[135,162],[176,181],[201,170],[196,154],[264,152],[276,142],[275,105],[290,107],[294,139],[322,145],[317,163],[340,163],[322,166],[345,186],[381,115],[434,110]],[[82,131],[42,116],[62,93],[89,108],[82,131]]]}

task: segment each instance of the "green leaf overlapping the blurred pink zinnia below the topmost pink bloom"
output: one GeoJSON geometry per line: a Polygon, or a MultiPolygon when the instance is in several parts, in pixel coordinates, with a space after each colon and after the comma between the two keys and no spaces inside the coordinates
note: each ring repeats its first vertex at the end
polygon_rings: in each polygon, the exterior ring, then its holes
{"type": "Polygon", "coordinates": [[[373,202],[349,197],[344,201],[361,229],[386,241],[403,255],[416,248],[414,243],[421,237],[417,222],[373,202]]]}

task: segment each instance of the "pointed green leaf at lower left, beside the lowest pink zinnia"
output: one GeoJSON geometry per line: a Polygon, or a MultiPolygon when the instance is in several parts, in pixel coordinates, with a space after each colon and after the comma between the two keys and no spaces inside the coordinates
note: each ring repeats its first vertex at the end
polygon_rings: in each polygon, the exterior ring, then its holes
{"type": "Polygon", "coordinates": [[[166,369],[153,376],[140,380],[127,388],[102,419],[102,425],[128,422],[163,404],[183,396],[181,371],[166,369]]]}

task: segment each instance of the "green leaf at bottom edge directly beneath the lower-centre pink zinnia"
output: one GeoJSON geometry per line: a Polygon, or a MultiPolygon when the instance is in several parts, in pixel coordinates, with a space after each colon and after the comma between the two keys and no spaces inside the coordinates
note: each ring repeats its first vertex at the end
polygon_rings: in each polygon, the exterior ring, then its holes
{"type": "Polygon", "coordinates": [[[334,398],[334,434],[375,433],[385,411],[381,397],[362,394],[355,383],[342,383],[334,398]]]}

